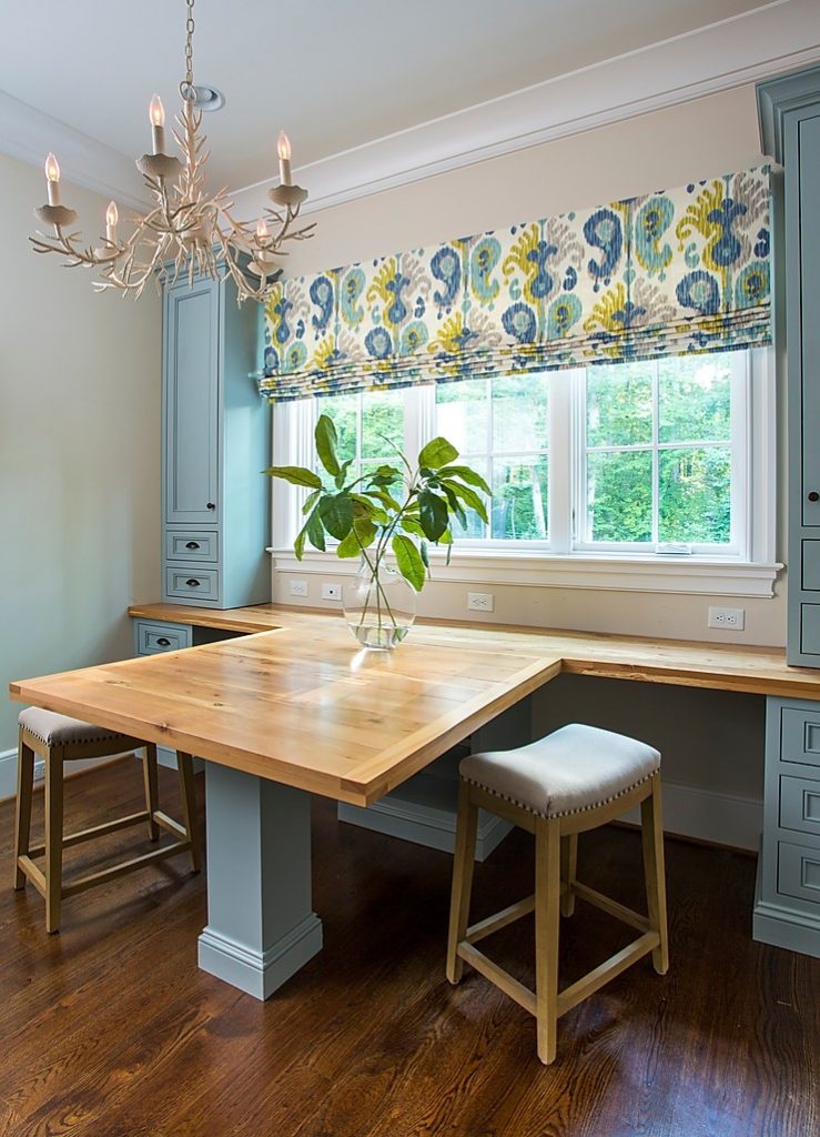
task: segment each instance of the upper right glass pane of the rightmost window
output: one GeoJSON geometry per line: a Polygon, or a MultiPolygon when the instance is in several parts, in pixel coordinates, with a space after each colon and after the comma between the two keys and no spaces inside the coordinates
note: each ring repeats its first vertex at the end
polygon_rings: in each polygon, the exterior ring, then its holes
{"type": "Polygon", "coordinates": [[[731,430],[729,360],[678,356],[658,365],[660,442],[722,442],[731,430]]]}

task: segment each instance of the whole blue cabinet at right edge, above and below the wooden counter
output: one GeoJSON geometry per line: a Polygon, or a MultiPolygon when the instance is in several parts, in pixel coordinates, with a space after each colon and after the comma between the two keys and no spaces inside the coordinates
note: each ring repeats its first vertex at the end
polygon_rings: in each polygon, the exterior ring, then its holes
{"type": "MultiPolygon", "coordinates": [[[[784,167],[788,412],[787,658],[820,666],[820,67],[758,86],[763,150],[784,167]]],[[[754,937],[820,956],[820,704],[767,699],[754,937]]]]}

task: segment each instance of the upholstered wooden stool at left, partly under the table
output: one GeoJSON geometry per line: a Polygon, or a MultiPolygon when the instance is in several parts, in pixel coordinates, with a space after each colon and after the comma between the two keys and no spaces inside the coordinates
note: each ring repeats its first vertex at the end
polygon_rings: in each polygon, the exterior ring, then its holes
{"type": "Polygon", "coordinates": [[[200,869],[200,840],[196,822],[196,799],[193,782],[193,763],[190,754],[177,754],[179,789],[184,824],[162,813],[158,804],[157,747],[139,738],[131,738],[103,727],[92,727],[78,719],[27,707],[18,719],[19,754],[17,764],[17,813],[15,825],[15,888],[24,888],[31,880],[45,898],[45,930],[58,931],[60,902],[94,885],[107,883],[115,877],[141,869],[151,861],[159,861],[177,853],[187,853],[194,872],[200,869]],[[62,765],[77,758],[101,758],[124,750],[144,749],[143,775],[145,808],[115,821],[108,821],[82,832],[62,835],[62,765]],[[30,846],[32,795],[34,787],[34,755],[45,763],[45,843],[30,846]],[[152,841],[159,840],[159,827],[174,833],[178,840],[143,856],[133,857],[99,872],[62,883],[62,850],[94,837],[112,833],[144,821],[152,841]],[[34,864],[34,857],[45,854],[45,871],[34,864]]]}

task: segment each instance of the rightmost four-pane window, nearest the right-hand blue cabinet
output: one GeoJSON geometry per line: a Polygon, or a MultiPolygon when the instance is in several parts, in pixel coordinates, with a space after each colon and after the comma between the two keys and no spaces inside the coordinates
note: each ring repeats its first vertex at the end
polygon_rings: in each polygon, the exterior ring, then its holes
{"type": "Polygon", "coordinates": [[[591,367],[578,391],[578,548],[742,551],[742,352],[591,367]]]}

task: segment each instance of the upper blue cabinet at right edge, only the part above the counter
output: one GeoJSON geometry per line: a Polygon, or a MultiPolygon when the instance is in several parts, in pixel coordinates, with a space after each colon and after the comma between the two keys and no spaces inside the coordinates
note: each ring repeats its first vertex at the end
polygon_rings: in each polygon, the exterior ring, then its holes
{"type": "MultiPolygon", "coordinates": [[[[784,167],[788,374],[788,662],[820,666],[820,67],[758,86],[765,153],[784,167]]],[[[778,281],[778,284],[781,283],[778,281]]],[[[779,314],[778,314],[779,315],[779,314]]]]}

